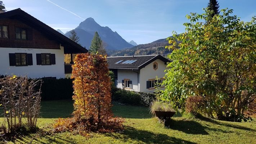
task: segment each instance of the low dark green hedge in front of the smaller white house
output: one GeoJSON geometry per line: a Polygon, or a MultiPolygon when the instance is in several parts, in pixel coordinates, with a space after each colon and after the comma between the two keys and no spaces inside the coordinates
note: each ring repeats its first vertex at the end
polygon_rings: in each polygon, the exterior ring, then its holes
{"type": "Polygon", "coordinates": [[[149,107],[155,100],[155,95],[153,93],[114,89],[112,91],[112,100],[123,104],[144,105],[149,107]]]}

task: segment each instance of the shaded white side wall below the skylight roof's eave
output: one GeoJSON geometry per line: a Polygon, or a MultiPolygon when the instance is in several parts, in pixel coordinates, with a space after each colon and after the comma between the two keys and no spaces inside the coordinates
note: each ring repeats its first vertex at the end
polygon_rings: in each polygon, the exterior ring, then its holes
{"type": "MultiPolygon", "coordinates": [[[[134,71],[138,72],[138,70],[134,70],[134,71]]],[[[133,89],[127,89],[127,90],[139,91],[138,73],[136,72],[133,72],[132,69],[118,69],[117,70],[117,88],[122,89],[122,80],[129,79],[130,81],[133,81],[133,89]]]]}

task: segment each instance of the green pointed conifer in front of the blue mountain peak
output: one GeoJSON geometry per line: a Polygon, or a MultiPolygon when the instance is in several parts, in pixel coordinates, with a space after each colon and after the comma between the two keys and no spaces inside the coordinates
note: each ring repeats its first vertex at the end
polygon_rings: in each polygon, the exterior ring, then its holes
{"type": "Polygon", "coordinates": [[[90,53],[93,54],[101,54],[101,55],[106,55],[106,50],[105,50],[106,44],[100,39],[100,36],[98,32],[95,32],[95,35],[93,37],[93,40],[91,41],[91,46],[90,46],[90,53]]]}

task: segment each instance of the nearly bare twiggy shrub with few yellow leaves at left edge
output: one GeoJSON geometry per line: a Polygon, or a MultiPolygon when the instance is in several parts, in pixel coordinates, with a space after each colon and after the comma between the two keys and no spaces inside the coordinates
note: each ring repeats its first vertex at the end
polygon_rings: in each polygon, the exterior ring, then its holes
{"type": "Polygon", "coordinates": [[[40,112],[41,80],[26,76],[5,76],[0,78],[0,115],[4,116],[0,135],[10,136],[27,127],[34,130],[40,112]],[[36,90],[35,86],[39,86],[36,90]],[[26,122],[23,122],[25,120],[26,122]],[[4,133],[4,135],[2,135],[4,133]]]}

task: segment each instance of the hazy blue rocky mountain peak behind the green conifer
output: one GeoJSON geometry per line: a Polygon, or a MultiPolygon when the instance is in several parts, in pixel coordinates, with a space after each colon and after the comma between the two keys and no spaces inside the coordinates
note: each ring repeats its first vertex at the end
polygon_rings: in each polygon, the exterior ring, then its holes
{"type": "MultiPolygon", "coordinates": [[[[105,42],[106,49],[109,50],[121,50],[123,48],[131,48],[133,45],[125,41],[117,32],[113,32],[109,27],[102,27],[94,21],[93,18],[87,18],[81,22],[77,28],[75,28],[77,36],[80,38],[79,43],[90,48],[91,40],[94,33],[98,32],[100,38],[105,42]]],[[[65,36],[69,36],[70,31],[65,33],[65,36]]]]}

